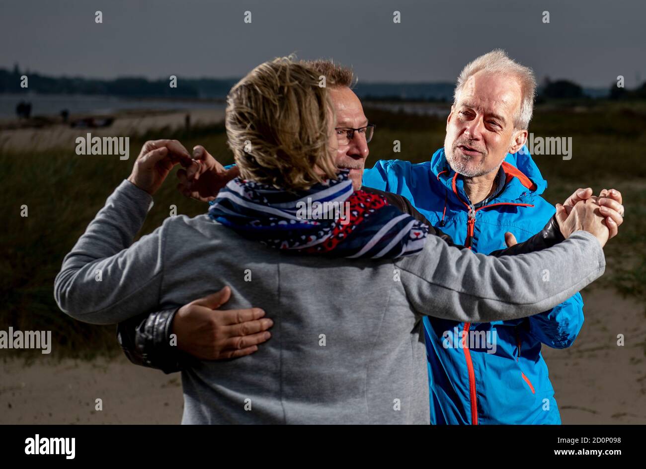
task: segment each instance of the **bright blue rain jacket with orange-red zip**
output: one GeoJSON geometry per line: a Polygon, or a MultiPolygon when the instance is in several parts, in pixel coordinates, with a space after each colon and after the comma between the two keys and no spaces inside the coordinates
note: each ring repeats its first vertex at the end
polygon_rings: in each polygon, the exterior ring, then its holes
{"type": "MultiPolygon", "coordinates": [[[[363,183],[401,194],[457,244],[488,254],[505,247],[506,231],[522,242],[554,214],[541,197],[547,182],[524,150],[507,155],[503,191],[474,216],[444,149],[425,163],[381,160],[364,172],[363,183]]],[[[549,281],[549,273],[541,278],[549,281]]],[[[560,424],[541,343],[569,347],[582,325],[579,293],[550,311],[514,321],[465,324],[424,317],[431,423],[560,424]]]]}

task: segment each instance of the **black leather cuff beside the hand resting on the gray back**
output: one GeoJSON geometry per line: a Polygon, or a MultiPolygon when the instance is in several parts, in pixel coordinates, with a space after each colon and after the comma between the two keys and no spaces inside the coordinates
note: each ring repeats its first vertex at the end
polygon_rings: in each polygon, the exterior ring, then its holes
{"type": "Polygon", "coordinates": [[[182,371],[185,355],[171,342],[171,324],[176,312],[177,309],[165,309],[145,313],[119,324],[117,339],[132,363],[164,373],[182,371]]]}

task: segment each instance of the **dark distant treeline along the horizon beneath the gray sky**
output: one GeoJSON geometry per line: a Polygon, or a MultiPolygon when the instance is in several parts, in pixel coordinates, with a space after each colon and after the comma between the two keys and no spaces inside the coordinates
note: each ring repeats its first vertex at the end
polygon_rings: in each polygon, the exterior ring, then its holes
{"type": "MultiPolygon", "coordinates": [[[[238,81],[238,78],[177,78],[178,86],[171,88],[169,79],[116,78],[110,80],[81,77],[54,78],[31,72],[21,72],[16,65],[13,70],[0,68],[0,93],[20,93],[21,76],[29,80],[28,90],[41,94],[100,94],[123,97],[155,98],[216,98],[223,99],[238,81]]],[[[454,83],[369,83],[360,82],[355,91],[362,99],[379,101],[439,101],[453,99],[454,83]]],[[[629,90],[616,84],[606,89],[583,88],[572,81],[559,79],[543,80],[537,92],[537,101],[554,99],[646,99],[646,82],[629,90]]]]}

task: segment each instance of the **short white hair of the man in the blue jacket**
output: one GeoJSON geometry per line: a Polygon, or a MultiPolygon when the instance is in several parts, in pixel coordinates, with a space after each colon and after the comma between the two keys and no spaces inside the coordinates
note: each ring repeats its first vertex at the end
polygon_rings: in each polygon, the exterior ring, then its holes
{"type": "Polygon", "coordinates": [[[529,122],[532,120],[532,112],[534,112],[534,94],[536,93],[536,78],[534,78],[532,69],[510,59],[504,50],[494,49],[488,54],[477,57],[462,69],[457,77],[453,92],[453,105],[457,103],[466,81],[477,72],[511,75],[518,80],[521,86],[521,107],[514,117],[514,127],[528,129],[529,122]]]}

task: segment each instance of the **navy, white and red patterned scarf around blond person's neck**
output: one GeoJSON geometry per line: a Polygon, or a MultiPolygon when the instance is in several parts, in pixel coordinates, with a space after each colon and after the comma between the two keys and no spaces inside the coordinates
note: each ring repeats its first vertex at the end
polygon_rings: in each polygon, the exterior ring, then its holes
{"type": "Polygon", "coordinates": [[[428,226],[382,196],[353,191],[348,174],[298,194],[236,178],[211,202],[209,216],[244,238],[296,253],[395,258],[421,251],[428,226]]]}

